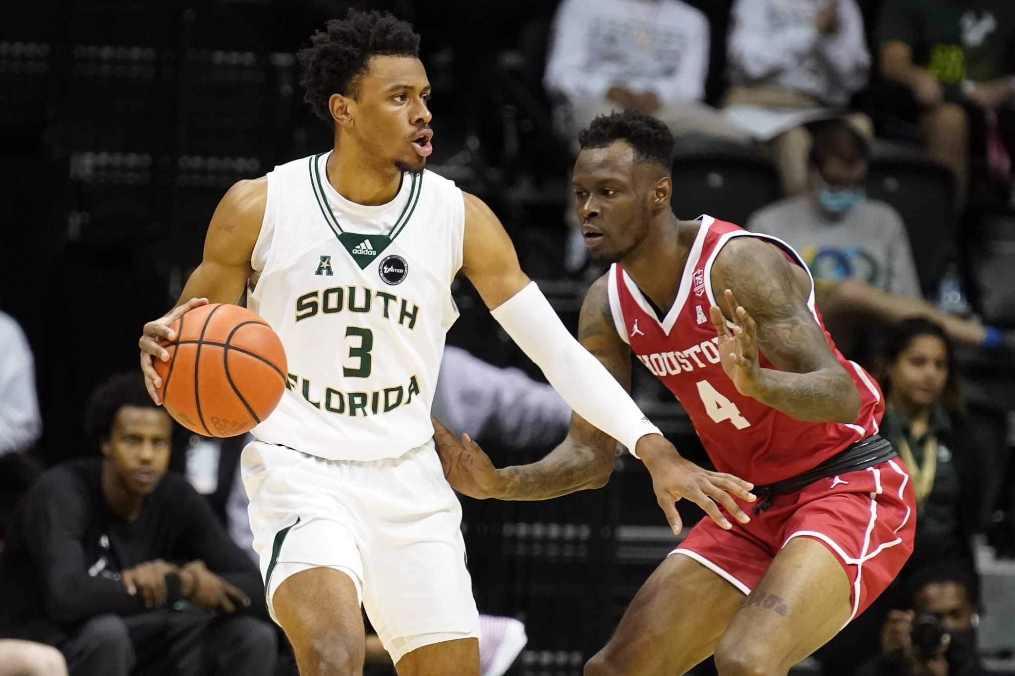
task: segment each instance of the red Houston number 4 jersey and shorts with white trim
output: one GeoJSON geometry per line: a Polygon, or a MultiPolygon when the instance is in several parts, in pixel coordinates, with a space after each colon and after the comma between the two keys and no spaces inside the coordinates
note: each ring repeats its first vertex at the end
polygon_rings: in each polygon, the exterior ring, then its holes
{"type": "MultiPolygon", "coordinates": [[[[772,483],[802,474],[877,433],[884,414],[881,390],[835,349],[827,331],[829,348],[860,392],[860,414],[853,423],[803,423],[737,391],[723,371],[708,317],[708,308],[717,304],[710,277],[717,255],[733,237],[758,237],[780,246],[804,270],[807,266],[775,237],[710,216],[702,216],[700,223],[676,301],[662,321],[619,264],[610,269],[608,289],[617,332],[680,400],[716,468],[756,485],[772,483]]],[[[807,304],[823,328],[813,282],[807,304]]],[[[764,355],[759,361],[762,368],[774,368],[764,355]]],[[[912,550],[916,503],[898,458],[775,496],[771,508],[757,515],[749,512],[750,504],[741,507],[752,514],[749,524],[731,519],[733,530],[725,531],[702,519],[675,552],[692,556],[744,593],[787,541],[812,537],[850,575],[856,616],[888,586],[912,550]]]]}

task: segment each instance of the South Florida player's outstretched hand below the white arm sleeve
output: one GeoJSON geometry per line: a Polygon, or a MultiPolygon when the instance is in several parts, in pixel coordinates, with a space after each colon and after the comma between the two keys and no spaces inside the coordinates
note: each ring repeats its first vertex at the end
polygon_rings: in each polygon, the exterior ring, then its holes
{"type": "Polygon", "coordinates": [[[720,505],[741,523],[751,520],[733,500],[733,496],[753,503],[755,497],[750,493],[754,487],[753,483],[733,474],[712,472],[698,467],[682,458],[673,444],[658,434],[641,437],[635,450],[652,474],[656,502],[666,514],[674,535],[679,534],[683,528],[680,514],[674,505],[678,500],[691,501],[727,530],[733,526],[723,516],[720,505]]]}

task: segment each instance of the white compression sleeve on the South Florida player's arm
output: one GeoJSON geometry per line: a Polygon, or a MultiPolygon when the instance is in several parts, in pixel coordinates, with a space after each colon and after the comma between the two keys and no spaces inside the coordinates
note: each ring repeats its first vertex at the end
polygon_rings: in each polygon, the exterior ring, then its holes
{"type": "Polygon", "coordinates": [[[535,282],[490,311],[574,412],[634,454],[637,440],[662,434],[620,383],[564,328],[535,282]]]}

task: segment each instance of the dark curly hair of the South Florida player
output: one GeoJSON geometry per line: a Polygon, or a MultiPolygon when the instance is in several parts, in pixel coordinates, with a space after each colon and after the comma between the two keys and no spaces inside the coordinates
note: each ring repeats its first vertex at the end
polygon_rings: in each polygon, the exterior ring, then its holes
{"type": "Polygon", "coordinates": [[[331,122],[332,94],[355,98],[356,78],[371,57],[419,58],[419,35],[412,24],[388,12],[349,9],[344,19],[331,19],[311,35],[311,46],[296,53],[303,69],[303,100],[321,120],[331,122]]]}

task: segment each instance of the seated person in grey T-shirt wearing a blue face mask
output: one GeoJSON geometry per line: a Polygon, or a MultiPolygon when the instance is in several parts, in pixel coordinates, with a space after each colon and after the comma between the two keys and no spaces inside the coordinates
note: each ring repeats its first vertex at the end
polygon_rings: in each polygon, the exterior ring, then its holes
{"type": "Polygon", "coordinates": [[[902,219],[864,192],[870,149],[849,123],[831,121],[814,134],[810,191],[761,209],[747,229],[774,235],[800,251],[820,291],[857,280],[882,291],[920,296],[902,219]]]}

